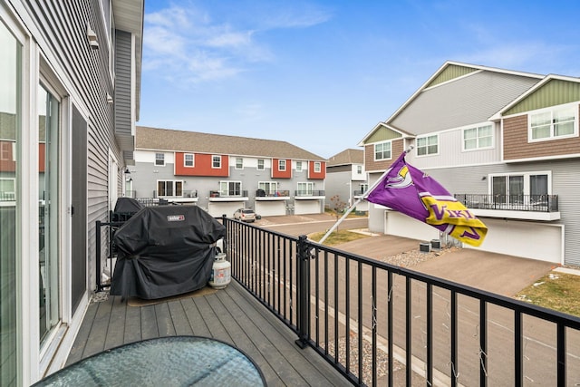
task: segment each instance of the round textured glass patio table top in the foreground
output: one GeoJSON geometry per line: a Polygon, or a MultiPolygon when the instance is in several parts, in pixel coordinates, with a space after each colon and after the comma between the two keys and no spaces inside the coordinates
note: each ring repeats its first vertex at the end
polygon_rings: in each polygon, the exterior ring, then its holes
{"type": "Polygon", "coordinates": [[[246,353],[219,340],[171,336],[129,343],[94,354],[35,386],[265,386],[246,353]]]}

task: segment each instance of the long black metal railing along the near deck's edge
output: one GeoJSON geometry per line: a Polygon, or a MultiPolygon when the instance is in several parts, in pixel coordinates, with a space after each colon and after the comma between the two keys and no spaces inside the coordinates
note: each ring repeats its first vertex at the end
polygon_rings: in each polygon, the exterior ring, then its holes
{"type": "Polygon", "coordinates": [[[580,380],[578,317],[222,221],[233,278],[353,384],[580,380]]]}

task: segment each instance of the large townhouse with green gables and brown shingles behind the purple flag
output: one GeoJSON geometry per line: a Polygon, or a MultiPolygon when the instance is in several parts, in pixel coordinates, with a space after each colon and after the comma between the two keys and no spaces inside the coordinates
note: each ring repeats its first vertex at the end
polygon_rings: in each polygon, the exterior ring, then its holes
{"type": "MultiPolygon", "coordinates": [[[[361,141],[372,185],[406,160],[488,226],[480,249],[580,265],[580,79],[444,63],[361,141]]],[[[437,229],[370,206],[373,231],[429,241],[437,229]]]]}

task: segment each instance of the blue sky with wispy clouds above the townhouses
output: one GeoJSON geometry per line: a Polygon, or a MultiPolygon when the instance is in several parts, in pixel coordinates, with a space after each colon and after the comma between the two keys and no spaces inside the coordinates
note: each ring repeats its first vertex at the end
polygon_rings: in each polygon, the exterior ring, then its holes
{"type": "Polygon", "coordinates": [[[580,2],[145,0],[139,125],[330,158],[446,61],[580,76],[580,2]]]}

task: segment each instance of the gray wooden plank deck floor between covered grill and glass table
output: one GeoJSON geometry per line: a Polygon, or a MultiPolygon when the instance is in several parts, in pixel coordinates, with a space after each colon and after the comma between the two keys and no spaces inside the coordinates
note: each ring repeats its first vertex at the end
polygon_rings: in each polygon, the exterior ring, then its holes
{"type": "Polygon", "coordinates": [[[120,296],[93,302],[67,364],[125,343],[171,335],[213,337],[247,353],[269,386],[351,385],[235,282],[209,295],[131,306],[120,296]]]}

